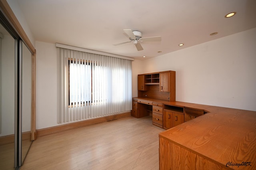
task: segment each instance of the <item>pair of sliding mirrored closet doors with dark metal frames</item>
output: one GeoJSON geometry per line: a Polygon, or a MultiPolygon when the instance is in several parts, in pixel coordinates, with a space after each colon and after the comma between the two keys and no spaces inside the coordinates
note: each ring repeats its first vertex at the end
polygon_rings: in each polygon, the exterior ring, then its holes
{"type": "Polygon", "coordinates": [[[0,15],[0,169],[22,165],[32,144],[32,53],[0,15]]]}

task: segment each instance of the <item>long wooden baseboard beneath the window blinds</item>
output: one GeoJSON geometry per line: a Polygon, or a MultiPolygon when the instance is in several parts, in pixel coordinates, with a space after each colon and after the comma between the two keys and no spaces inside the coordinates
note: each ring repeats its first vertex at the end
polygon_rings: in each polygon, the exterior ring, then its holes
{"type": "Polygon", "coordinates": [[[115,119],[120,119],[120,118],[124,118],[124,117],[129,117],[129,116],[131,116],[131,111],[126,112],[126,113],[120,113],[117,115],[110,115],[110,116],[100,117],[100,118],[96,118],[96,119],[90,119],[90,120],[86,120],[86,121],[80,121],[80,122],[69,123],[69,124],[65,124],[65,125],[59,125],[59,126],[55,126],[55,127],[43,128],[43,129],[36,130],[36,136],[37,137],[45,136],[48,134],[58,133],[58,132],[62,132],[65,130],[70,130],[70,129],[79,128],[79,127],[85,127],[88,125],[94,125],[97,123],[112,121],[115,119]]]}

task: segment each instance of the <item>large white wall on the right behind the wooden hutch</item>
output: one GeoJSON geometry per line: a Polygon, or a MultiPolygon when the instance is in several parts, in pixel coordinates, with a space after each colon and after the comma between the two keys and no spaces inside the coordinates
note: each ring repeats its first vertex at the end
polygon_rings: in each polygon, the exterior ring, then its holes
{"type": "Polygon", "coordinates": [[[176,71],[176,101],[256,111],[256,28],[147,59],[143,67],[176,71]]]}

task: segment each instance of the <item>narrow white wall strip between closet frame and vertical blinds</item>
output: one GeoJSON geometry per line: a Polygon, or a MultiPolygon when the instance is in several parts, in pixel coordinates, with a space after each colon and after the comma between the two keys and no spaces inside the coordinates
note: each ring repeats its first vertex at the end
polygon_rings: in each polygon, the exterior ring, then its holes
{"type": "Polygon", "coordinates": [[[36,129],[58,125],[57,62],[55,44],[36,42],[36,129]]]}

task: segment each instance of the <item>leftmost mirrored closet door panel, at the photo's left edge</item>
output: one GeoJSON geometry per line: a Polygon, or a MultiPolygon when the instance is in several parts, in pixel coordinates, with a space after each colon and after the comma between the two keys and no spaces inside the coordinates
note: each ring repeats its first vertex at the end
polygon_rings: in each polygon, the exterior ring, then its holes
{"type": "Polygon", "coordinates": [[[15,39],[0,25],[0,169],[14,168],[15,39]]]}

